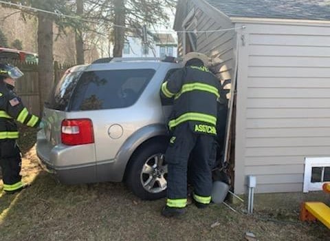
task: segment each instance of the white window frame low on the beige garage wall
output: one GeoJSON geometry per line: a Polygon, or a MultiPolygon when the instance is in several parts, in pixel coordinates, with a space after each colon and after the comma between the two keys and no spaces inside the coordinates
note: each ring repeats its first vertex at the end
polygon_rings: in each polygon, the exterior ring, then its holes
{"type": "Polygon", "coordinates": [[[313,167],[330,167],[330,157],[305,158],[305,174],[303,192],[321,191],[325,182],[311,182],[311,171],[313,167]]]}

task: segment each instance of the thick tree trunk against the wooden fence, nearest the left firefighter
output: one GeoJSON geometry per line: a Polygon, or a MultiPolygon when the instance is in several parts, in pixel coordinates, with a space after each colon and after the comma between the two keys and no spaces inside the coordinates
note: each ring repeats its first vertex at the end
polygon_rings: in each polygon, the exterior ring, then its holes
{"type": "Polygon", "coordinates": [[[42,114],[43,104],[54,83],[53,19],[42,12],[38,14],[38,54],[39,104],[42,114]]]}

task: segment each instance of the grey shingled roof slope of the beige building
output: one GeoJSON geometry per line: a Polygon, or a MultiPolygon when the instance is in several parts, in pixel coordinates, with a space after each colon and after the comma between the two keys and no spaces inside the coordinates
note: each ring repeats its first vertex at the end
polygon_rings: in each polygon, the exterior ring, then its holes
{"type": "Polygon", "coordinates": [[[330,0],[205,0],[228,17],[330,20],[330,0]]]}

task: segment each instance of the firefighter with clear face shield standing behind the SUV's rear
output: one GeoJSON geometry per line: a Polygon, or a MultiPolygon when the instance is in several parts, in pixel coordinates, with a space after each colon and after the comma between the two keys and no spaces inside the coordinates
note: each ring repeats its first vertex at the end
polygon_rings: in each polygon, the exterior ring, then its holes
{"type": "Polygon", "coordinates": [[[0,167],[5,193],[16,193],[29,186],[21,182],[21,151],[17,145],[19,132],[15,121],[28,127],[43,125],[13,91],[16,79],[21,76],[23,73],[18,67],[0,63],[0,167]]]}

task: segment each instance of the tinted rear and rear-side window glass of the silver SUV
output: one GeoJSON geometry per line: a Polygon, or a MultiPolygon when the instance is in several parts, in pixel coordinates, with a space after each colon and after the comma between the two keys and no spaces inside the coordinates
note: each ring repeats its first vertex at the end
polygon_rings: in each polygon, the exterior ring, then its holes
{"type": "Polygon", "coordinates": [[[154,74],[152,69],[71,73],[57,85],[50,107],[68,111],[129,107],[154,74]]]}

